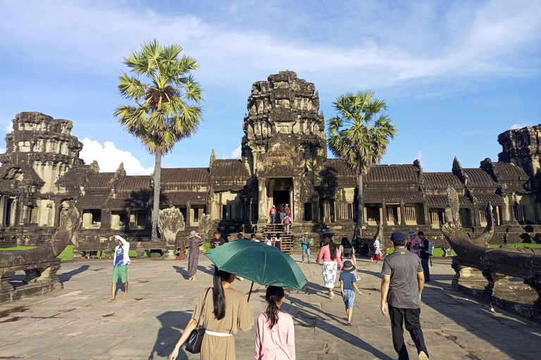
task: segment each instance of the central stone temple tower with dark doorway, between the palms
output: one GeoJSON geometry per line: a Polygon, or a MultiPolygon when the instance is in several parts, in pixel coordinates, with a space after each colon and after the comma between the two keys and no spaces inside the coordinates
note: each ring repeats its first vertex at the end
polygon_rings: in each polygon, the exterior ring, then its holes
{"type": "Polygon", "coordinates": [[[242,162],[258,182],[261,223],[272,205],[290,204],[297,223],[304,207],[312,211],[301,194],[318,185],[317,169],[327,156],[325,121],[315,89],[292,71],[270,75],[251,87],[242,162]]]}

